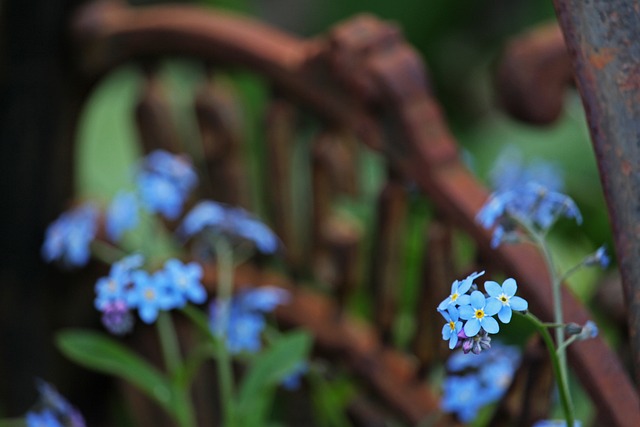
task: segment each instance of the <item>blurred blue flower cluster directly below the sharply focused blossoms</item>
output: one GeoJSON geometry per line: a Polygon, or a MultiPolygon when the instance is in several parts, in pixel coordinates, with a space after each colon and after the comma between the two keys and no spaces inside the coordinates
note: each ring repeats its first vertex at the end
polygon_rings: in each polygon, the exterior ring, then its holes
{"type": "Polygon", "coordinates": [[[478,356],[454,352],[447,360],[449,375],[443,383],[440,406],[462,422],[472,421],[482,407],[502,398],[519,363],[517,347],[502,344],[478,356]]]}

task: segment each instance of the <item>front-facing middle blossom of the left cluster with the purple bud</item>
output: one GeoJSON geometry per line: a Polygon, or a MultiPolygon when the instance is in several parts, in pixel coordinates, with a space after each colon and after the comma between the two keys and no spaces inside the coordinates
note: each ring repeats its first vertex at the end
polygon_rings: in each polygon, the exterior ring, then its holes
{"type": "Polygon", "coordinates": [[[167,278],[162,272],[150,275],[146,271],[137,270],[131,275],[133,287],[126,295],[130,308],[137,308],[140,318],[145,323],[153,323],[160,310],[171,310],[178,303],[176,295],[169,290],[167,278]]]}

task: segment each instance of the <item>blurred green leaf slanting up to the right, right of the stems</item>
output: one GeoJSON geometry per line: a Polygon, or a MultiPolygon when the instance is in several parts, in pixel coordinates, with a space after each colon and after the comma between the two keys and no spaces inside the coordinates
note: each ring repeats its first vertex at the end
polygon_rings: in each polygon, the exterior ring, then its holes
{"type": "Polygon", "coordinates": [[[294,331],[273,341],[260,353],[249,367],[238,394],[239,413],[249,413],[253,402],[269,393],[291,372],[298,363],[306,360],[311,348],[311,336],[294,331]]]}

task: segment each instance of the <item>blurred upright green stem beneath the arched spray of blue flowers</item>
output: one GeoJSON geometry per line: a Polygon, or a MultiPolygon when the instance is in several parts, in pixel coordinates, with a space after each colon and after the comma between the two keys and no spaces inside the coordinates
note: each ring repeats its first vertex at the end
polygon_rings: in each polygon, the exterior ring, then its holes
{"type": "MultiPolygon", "coordinates": [[[[218,311],[216,319],[219,322],[220,330],[226,335],[229,325],[229,308],[231,295],[233,292],[233,251],[229,242],[221,237],[215,239],[214,249],[218,264],[218,311]]],[[[226,340],[226,336],[223,336],[226,340]]],[[[233,365],[231,355],[226,346],[226,342],[221,342],[218,349],[218,376],[220,381],[220,397],[222,399],[223,425],[233,427],[235,422],[235,411],[233,407],[233,365]]]]}

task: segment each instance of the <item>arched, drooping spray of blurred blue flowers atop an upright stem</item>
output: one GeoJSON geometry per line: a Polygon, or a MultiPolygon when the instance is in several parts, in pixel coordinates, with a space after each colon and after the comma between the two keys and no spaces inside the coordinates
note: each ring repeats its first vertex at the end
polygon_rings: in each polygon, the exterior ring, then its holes
{"type": "Polygon", "coordinates": [[[279,247],[273,231],[247,211],[211,200],[194,206],[180,227],[180,233],[187,238],[204,230],[252,241],[263,253],[273,253],[279,247]]]}

